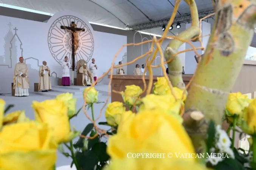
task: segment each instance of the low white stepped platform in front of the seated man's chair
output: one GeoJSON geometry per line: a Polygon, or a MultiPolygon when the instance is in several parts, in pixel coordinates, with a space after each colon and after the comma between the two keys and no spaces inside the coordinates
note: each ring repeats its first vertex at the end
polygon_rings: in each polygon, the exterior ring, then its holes
{"type": "MultiPolygon", "coordinates": [[[[88,87],[84,87],[84,86],[52,86],[51,87],[52,90],[51,91],[47,91],[47,92],[34,92],[34,91],[29,91],[29,93],[31,94],[37,94],[37,95],[41,95],[41,96],[48,96],[48,97],[55,97],[58,94],[61,93],[73,93],[74,97],[82,97],[83,95],[83,90],[85,88],[88,87]]],[[[108,85],[96,85],[94,87],[97,91],[99,91],[99,96],[107,96],[108,95],[108,85]]]]}

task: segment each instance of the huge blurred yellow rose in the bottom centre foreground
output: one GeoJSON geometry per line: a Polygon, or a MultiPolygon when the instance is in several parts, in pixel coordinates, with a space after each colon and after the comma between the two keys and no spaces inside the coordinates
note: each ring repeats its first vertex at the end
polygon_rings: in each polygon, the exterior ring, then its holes
{"type": "MultiPolygon", "coordinates": [[[[119,162],[118,169],[159,169],[161,164],[168,165],[172,159],[130,159],[128,153],[195,153],[192,142],[182,124],[168,113],[159,114],[163,110],[145,110],[134,118],[128,118],[123,122],[121,131],[109,138],[107,153],[112,158],[113,164],[119,162]],[[166,133],[168,132],[168,133],[166,133]],[[128,166],[131,164],[131,166],[128,166]],[[147,167],[151,164],[151,167],[147,167]],[[129,168],[125,167],[128,166],[129,168]],[[154,166],[154,167],[152,167],[154,166]]],[[[195,161],[193,158],[182,160],[195,161]]],[[[116,169],[116,168],[115,168],[116,169]]],[[[169,168],[162,168],[169,169],[169,168]]]]}

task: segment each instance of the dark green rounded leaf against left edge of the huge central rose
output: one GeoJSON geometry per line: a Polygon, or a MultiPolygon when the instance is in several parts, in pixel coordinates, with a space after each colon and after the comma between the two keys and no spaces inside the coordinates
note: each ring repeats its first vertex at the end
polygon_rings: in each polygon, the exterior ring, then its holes
{"type": "Polygon", "coordinates": [[[110,156],[107,154],[107,145],[104,142],[94,144],[92,151],[98,157],[100,162],[106,162],[110,158],[110,156]]]}

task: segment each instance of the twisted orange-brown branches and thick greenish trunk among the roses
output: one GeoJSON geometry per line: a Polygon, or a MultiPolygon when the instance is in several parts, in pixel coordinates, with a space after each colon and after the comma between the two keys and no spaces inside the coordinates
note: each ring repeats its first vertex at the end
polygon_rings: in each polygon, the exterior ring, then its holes
{"type": "MultiPolygon", "coordinates": [[[[110,72],[110,81],[109,81],[109,93],[107,100],[103,107],[101,108],[99,117],[102,115],[102,110],[109,101],[111,93],[111,82],[113,78],[113,69],[119,66],[129,65],[136,62],[138,59],[146,57],[146,70],[149,70],[149,77],[151,83],[146,85],[145,77],[142,76],[144,83],[144,89],[142,93],[147,91],[149,93],[152,87],[153,73],[152,68],[161,66],[164,77],[171,80],[169,87],[172,89],[178,87],[185,89],[182,74],[181,74],[181,64],[178,60],[177,55],[186,51],[194,51],[197,57],[200,57],[197,54],[197,49],[203,49],[201,38],[201,22],[203,19],[198,19],[197,7],[194,0],[185,0],[191,9],[192,24],[191,27],[180,33],[177,37],[175,36],[166,36],[168,29],[163,33],[163,36],[160,39],[155,37],[152,40],[148,40],[141,43],[130,43],[123,45],[119,51],[116,53],[112,65],[99,79],[106,76],[110,72]],[[170,45],[166,48],[165,57],[166,62],[164,62],[164,55],[161,51],[161,43],[166,38],[173,38],[170,45]],[[190,41],[199,41],[201,47],[195,48],[190,41]],[[115,66],[114,62],[116,57],[123,49],[124,46],[130,45],[142,45],[144,43],[151,43],[150,51],[143,54],[142,56],[137,57],[131,62],[124,63],[122,65],[115,66]],[[186,49],[178,52],[178,48],[183,44],[188,43],[191,45],[191,49],[186,49]],[[156,49],[153,53],[153,46],[156,46],[156,49]],[[155,58],[157,53],[160,53],[161,64],[160,65],[151,65],[152,59],[155,58]],[[152,54],[153,53],[153,54],[152,54]],[[152,57],[151,57],[152,54],[152,57]],[[149,60],[151,57],[151,60],[149,60]],[[169,77],[165,74],[165,69],[163,65],[168,63],[169,71],[171,74],[169,77]],[[172,69],[173,68],[173,69],[172,69]]],[[[206,138],[206,129],[207,122],[209,119],[213,119],[217,124],[221,124],[221,119],[223,109],[225,107],[225,102],[227,100],[227,94],[231,91],[233,84],[238,76],[240,68],[244,61],[244,56],[246,54],[247,48],[250,45],[253,29],[255,28],[256,21],[256,2],[248,0],[215,0],[216,5],[216,23],[214,24],[214,29],[211,33],[208,46],[206,48],[205,54],[201,62],[198,64],[195,74],[193,75],[191,81],[186,88],[189,87],[188,97],[185,104],[185,113],[183,115],[184,127],[188,132],[191,140],[194,144],[194,147],[197,152],[202,151],[202,141],[206,138]],[[221,4],[221,5],[220,5],[221,4]],[[243,34],[243,36],[239,36],[243,34]],[[222,74],[225,72],[226,74],[222,74]]],[[[171,26],[175,15],[178,10],[178,5],[180,0],[175,1],[174,11],[167,25],[167,28],[171,26]]],[[[212,14],[213,15],[213,14],[212,14]]],[[[208,17],[208,16],[207,16],[208,17]]],[[[193,56],[190,56],[193,57],[193,56]]],[[[144,72],[146,73],[146,71],[144,72]]],[[[88,88],[95,86],[97,81],[88,88]]],[[[119,93],[119,92],[116,92],[119,93]]],[[[84,102],[84,106],[86,102],[84,102]]],[[[85,107],[84,107],[85,116],[93,122],[97,132],[100,134],[106,134],[106,131],[100,129],[96,125],[96,121],[99,117],[92,121],[88,116],[85,107]]],[[[183,114],[183,113],[181,113],[183,114]]],[[[95,138],[98,134],[95,134],[93,137],[81,136],[83,138],[95,138]]],[[[106,134],[106,136],[108,136],[106,134]]]]}

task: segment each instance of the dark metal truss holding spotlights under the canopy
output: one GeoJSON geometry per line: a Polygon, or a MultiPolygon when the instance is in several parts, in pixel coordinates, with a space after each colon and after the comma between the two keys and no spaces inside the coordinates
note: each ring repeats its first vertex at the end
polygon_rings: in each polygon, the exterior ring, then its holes
{"type": "MultiPolygon", "coordinates": [[[[208,10],[208,11],[200,11],[198,12],[199,15],[199,19],[206,17],[207,15],[213,14],[214,10],[208,10]]],[[[213,16],[208,17],[208,18],[213,18],[213,16]]],[[[163,25],[167,25],[169,22],[169,19],[163,19],[163,20],[158,20],[158,21],[152,21],[152,22],[147,22],[147,23],[141,23],[141,24],[136,24],[136,25],[131,25],[131,26],[126,26],[127,30],[130,31],[141,31],[144,29],[150,29],[150,28],[158,28],[161,27],[163,25]]],[[[191,15],[190,14],[185,14],[185,15],[181,15],[181,16],[177,16],[174,19],[174,24],[176,23],[187,23],[187,22],[191,22],[191,15]]]]}

